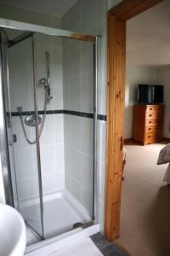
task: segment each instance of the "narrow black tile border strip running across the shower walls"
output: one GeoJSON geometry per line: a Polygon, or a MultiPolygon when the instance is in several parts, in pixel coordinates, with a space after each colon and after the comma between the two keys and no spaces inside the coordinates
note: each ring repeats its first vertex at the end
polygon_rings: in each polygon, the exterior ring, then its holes
{"type": "MultiPolygon", "coordinates": [[[[23,111],[22,115],[29,115],[35,113],[34,111],[23,111]]],[[[40,110],[38,111],[38,114],[43,114],[44,111],[40,110]]],[[[88,119],[94,119],[94,113],[86,113],[86,112],[79,112],[79,111],[72,111],[72,110],[47,110],[47,114],[54,114],[54,113],[65,113],[65,114],[71,114],[75,116],[80,116],[88,119]]],[[[8,113],[7,113],[8,114],[8,113]]],[[[20,116],[20,113],[12,112],[12,116],[20,116]]],[[[106,115],[104,114],[98,114],[98,119],[106,121],[106,115]]]]}

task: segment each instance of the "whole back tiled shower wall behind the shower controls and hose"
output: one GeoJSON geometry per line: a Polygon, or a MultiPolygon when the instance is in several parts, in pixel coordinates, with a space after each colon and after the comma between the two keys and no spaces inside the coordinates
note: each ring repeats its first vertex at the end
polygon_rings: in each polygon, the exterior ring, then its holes
{"type": "MultiPolygon", "coordinates": [[[[48,110],[63,109],[62,81],[62,40],[60,38],[36,35],[37,81],[47,77],[45,52],[50,58],[51,95],[53,99],[48,110]]],[[[26,201],[38,195],[37,148],[26,142],[20,124],[20,117],[14,116],[17,107],[23,111],[34,110],[34,90],[32,73],[31,38],[8,49],[11,110],[13,112],[13,132],[17,136],[14,143],[14,161],[19,201],[26,201]]],[[[38,110],[43,109],[45,90],[41,84],[37,89],[38,110]]],[[[23,116],[23,119],[26,115],[23,116]]],[[[26,126],[26,125],[25,125],[26,126]]],[[[35,138],[35,128],[26,126],[31,141],[35,138]]],[[[63,113],[46,116],[40,138],[43,195],[65,188],[63,113]]]]}

